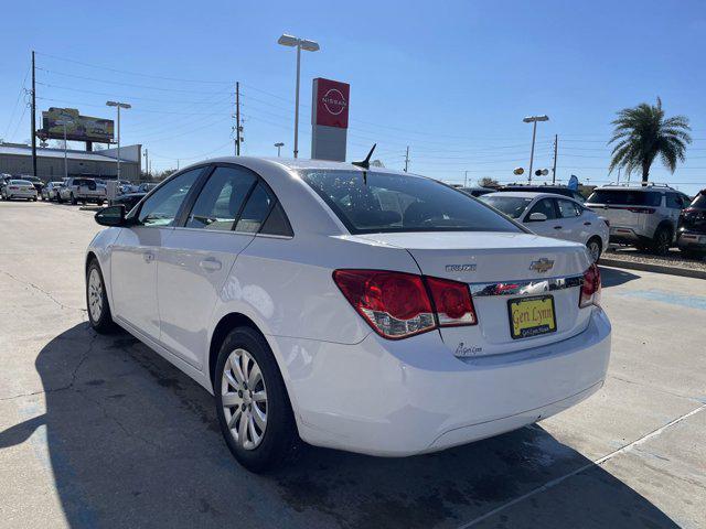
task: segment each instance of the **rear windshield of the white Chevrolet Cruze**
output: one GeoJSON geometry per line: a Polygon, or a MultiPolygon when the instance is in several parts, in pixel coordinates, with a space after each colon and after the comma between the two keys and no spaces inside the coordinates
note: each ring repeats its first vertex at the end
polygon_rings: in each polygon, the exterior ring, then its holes
{"type": "Polygon", "coordinates": [[[420,176],[368,171],[304,171],[301,176],[351,234],[522,231],[467,194],[420,176]]]}

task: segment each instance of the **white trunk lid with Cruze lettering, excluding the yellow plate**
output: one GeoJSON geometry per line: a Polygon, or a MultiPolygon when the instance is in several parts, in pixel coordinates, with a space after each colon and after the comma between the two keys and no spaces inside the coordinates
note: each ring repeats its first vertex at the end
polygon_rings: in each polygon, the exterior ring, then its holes
{"type": "MultiPolygon", "coordinates": [[[[578,306],[578,278],[590,266],[582,245],[534,234],[495,231],[356,237],[405,248],[425,276],[469,284],[478,325],[440,330],[443,343],[457,356],[477,357],[547,345],[571,337],[588,325],[590,310],[578,306]],[[553,304],[555,330],[513,338],[510,301],[533,299],[542,302],[549,298],[545,303],[553,304]]],[[[530,310],[534,311],[532,306],[530,310]]]]}

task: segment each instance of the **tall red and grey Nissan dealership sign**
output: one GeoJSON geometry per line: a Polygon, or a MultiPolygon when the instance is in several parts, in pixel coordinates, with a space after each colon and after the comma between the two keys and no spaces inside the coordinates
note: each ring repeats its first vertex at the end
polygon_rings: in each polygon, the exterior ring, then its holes
{"type": "Polygon", "coordinates": [[[313,79],[311,105],[311,158],[345,161],[351,85],[313,79]]]}

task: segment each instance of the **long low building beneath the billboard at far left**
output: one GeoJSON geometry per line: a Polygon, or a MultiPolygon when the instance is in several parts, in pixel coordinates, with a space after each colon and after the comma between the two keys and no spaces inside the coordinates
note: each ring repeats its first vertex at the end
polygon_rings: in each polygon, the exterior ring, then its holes
{"type": "MultiPolygon", "coordinates": [[[[120,177],[140,180],[142,145],[120,148],[120,177]]],[[[118,174],[117,149],[76,151],[68,149],[68,176],[116,179],[118,174]]],[[[0,173],[32,174],[32,148],[24,143],[0,143],[0,173]]],[[[64,149],[38,149],[36,175],[49,182],[64,177],[64,149]]]]}

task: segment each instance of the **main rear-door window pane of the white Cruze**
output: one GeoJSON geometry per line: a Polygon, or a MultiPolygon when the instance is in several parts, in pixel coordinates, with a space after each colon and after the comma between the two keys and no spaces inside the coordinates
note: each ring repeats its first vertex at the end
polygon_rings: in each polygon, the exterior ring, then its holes
{"type": "Polygon", "coordinates": [[[186,227],[231,230],[255,181],[244,169],[216,168],[201,190],[186,227]]]}

